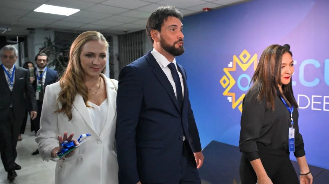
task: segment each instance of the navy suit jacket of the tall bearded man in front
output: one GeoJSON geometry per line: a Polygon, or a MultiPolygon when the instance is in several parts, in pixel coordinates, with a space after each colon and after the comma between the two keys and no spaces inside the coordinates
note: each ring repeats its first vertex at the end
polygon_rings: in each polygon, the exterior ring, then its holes
{"type": "Polygon", "coordinates": [[[162,183],[180,173],[184,135],[192,156],[201,151],[186,72],[177,67],[184,81],[182,110],[150,51],[119,74],[115,139],[120,184],[162,183]]]}

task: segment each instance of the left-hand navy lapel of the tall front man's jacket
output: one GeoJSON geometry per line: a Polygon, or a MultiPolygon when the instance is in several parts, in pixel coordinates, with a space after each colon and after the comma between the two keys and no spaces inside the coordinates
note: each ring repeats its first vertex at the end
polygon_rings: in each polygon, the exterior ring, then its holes
{"type": "Polygon", "coordinates": [[[168,95],[170,96],[172,102],[175,104],[177,110],[180,112],[180,109],[178,108],[178,102],[175,96],[174,89],[172,88],[172,85],[170,84],[167,76],[165,75],[164,71],[159,66],[158,62],[155,60],[154,56],[151,54],[151,51],[149,51],[145,58],[147,59],[148,63],[154,67],[153,73],[159,80],[159,82],[164,86],[164,89],[167,91],[168,95]]]}

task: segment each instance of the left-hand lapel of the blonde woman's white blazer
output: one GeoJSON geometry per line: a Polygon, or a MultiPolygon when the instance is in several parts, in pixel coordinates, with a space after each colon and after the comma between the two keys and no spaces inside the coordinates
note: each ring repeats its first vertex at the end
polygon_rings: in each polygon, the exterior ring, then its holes
{"type": "Polygon", "coordinates": [[[90,127],[90,129],[92,129],[94,131],[94,134],[98,136],[98,134],[96,133],[94,124],[92,123],[91,118],[89,116],[89,112],[86,107],[86,104],[83,101],[83,98],[80,94],[77,94],[75,96],[73,105],[77,109],[77,111],[80,113],[82,118],[85,120],[86,124],[90,127]]]}

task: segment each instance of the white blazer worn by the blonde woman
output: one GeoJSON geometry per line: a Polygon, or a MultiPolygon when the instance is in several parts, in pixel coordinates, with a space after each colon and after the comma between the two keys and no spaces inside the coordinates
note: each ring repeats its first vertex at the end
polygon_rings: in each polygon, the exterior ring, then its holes
{"type": "MultiPolygon", "coordinates": [[[[81,134],[91,134],[86,142],[79,146],[74,155],[57,161],[55,170],[55,184],[81,183],[118,183],[118,164],[115,150],[116,126],[116,90],[118,85],[105,75],[106,92],[108,98],[108,113],[100,135],[95,131],[89,117],[88,109],[81,95],[77,94],[72,107],[72,120],[68,120],[57,110],[57,98],[61,91],[60,83],[47,85],[42,105],[40,130],[36,142],[43,160],[51,159],[51,151],[58,146],[57,137],[64,132],[74,133],[74,139],[81,134]]],[[[61,107],[61,105],[59,105],[61,107]]]]}

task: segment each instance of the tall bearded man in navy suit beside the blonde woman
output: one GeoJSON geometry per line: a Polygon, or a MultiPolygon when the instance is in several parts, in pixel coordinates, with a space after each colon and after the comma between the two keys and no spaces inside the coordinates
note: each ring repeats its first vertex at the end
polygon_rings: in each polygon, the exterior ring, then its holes
{"type": "Polygon", "coordinates": [[[182,14],[160,7],[146,31],[154,49],[125,66],[117,92],[116,150],[120,184],[201,184],[204,157],[184,68],[182,14]]]}

